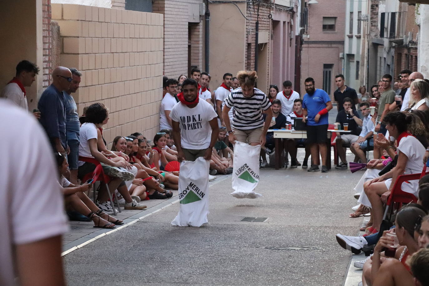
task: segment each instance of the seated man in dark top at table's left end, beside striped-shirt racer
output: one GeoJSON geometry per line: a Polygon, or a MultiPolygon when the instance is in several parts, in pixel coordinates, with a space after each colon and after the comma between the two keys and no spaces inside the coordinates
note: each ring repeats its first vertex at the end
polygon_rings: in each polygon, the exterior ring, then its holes
{"type": "MultiPolygon", "coordinates": [[[[267,115],[264,113],[264,121],[270,120],[271,124],[268,127],[270,129],[281,129],[286,128],[286,116],[282,114],[281,111],[281,101],[279,99],[274,99],[271,105],[272,117],[267,118],[267,115]],[[273,120],[275,119],[275,120],[273,120]]],[[[266,168],[268,166],[266,154],[272,154],[274,150],[274,132],[268,131],[265,136],[265,145],[261,146],[261,157],[262,163],[261,168],[266,168]]],[[[281,152],[283,150],[276,150],[276,152],[281,152]]]]}

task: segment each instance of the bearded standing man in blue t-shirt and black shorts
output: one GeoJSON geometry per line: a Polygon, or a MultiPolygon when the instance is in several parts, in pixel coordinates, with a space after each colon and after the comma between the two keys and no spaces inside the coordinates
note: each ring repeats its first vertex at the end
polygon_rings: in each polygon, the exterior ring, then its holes
{"type": "Polygon", "coordinates": [[[313,165],[308,172],[319,171],[319,151],[322,157],[322,172],[328,172],[326,167],[328,149],[326,140],[328,138],[328,111],[332,109],[329,95],[321,89],[314,88],[314,79],[306,78],[304,81],[305,93],[302,99],[302,121],[307,122],[307,144],[310,144],[313,165]],[[318,145],[318,148],[317,148],[318,145]]]}

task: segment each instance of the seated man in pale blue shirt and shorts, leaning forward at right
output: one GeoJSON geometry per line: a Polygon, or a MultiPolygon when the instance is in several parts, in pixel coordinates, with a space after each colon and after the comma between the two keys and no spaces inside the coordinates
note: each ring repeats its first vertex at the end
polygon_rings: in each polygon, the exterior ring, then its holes
{"type": "Polygon", "coordinates": [[[359,159],[362,160],[362,163],[367,163],[365,151],[367,148],[374,148],[374,139],[371,138],[369,140],[369,146],[367,139],[374,135],[375,118],[370,114],[368,102],[362,102],[359,105],[359,108],[363,116],[362,132],[360,132],[359,138],[356,142],[351,144],[350,151],[359,157],[359,159]]]}

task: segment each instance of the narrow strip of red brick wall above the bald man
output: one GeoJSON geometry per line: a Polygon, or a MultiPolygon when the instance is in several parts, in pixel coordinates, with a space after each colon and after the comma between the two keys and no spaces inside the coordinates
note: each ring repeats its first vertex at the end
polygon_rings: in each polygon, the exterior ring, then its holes
{"type": "Polygon", "coordinates": [[[42,41],[43,41],[43,88],[51,84],[51,73],[53,70],[51,59],[52,34],[51,34],[51,0],[42,2],[42,41]]]}

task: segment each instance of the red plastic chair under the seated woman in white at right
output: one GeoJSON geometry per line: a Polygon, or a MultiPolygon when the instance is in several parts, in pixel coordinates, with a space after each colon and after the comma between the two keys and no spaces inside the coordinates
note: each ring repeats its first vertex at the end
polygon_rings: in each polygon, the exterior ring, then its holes
{"type": "Polygon", "coordinates": [[[403,203],[408,204],[410,202],[414,202],[414,203],[417,202],[417,198],[413,194],[407,193],[401,190],[402,183],[407,181],[412,181],[412,180],[419,180],[426,174],[429,174],[429,172],[426,173],[426,165],[425,165],[423,166],[423,171],[421,173],[401,175],[396,179],[395,185],[393,186],[393,191],[390,194],[389,198],[387,199],[383,220],[386,219],[387,214],[389,214],[389,212],[391,211],[394,203],[399,203],[399,206],[398,206],[398,209],[399,209],[402,207],[403,203]]]}

